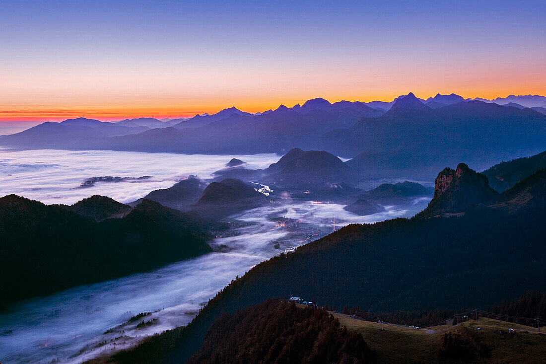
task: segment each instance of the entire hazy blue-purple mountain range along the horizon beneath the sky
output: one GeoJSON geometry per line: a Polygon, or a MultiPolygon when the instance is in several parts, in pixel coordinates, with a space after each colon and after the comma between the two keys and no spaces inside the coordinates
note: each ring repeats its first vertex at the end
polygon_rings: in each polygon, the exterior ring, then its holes
{"type": "Polygon", "coordinates": [[[463,161],[482,169],[546,149],[546,115],[538,106],[543,99],[546,97],[512,95],[484,102],[438,94],[423,100],[409,93],[384,104],[330,103],[316,98],[258,114],[229,108],[214,115],[167,122],[78,118],[45,122],[0,137],[0,145],[14,149],[281,155],[300,148],[352,158],[348,166],[367,178],[431,178],[444,165],[463,161]],[[500,102],[508,106],[497,104],[500,102]],[[514,103],[518,105],[511,106],[514,103]]]}

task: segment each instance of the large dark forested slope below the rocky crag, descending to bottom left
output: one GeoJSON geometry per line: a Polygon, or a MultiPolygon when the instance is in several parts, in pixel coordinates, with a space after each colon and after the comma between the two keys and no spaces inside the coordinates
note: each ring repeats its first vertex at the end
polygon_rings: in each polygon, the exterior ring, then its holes
{"type": "MultiPolygon", "coordinates": [[[[481,177],[469,179],[484,187],[481,177]]],[[[188,326],[146,340],[131,355],[153,358],[159,345],[168,343],[162,358],[183,362],[201,348],[222,313],[290,292],[321,305],[389,313],[460,312],[544,291],[545,180],[537,172],[503,193],[526,193],[524,210],[465,206],[459,217],[420,214],[346,226],[293,254],[260,263],[219,292],[188,326]]],[[[123,362],[123,355],[116,360],[123,362]]]]}

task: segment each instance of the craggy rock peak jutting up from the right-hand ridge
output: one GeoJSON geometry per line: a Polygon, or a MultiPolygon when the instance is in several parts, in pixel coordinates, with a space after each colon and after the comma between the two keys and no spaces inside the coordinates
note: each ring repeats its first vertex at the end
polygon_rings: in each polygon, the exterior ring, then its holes
{"type": "Polygon", "coordinates": [[[498,192],[489,187],[487,178],[459,163],[457,169],[446,168],[438,174],[432,201],[426,208],[428,216],[460,213],[468,206],[489,205],[498,198],[498,192]]]}

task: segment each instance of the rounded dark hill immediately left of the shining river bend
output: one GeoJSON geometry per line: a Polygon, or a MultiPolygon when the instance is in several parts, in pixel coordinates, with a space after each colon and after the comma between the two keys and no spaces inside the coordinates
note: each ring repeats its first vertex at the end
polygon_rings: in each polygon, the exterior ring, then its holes
{"type": "Polygon", "coordinates": [[[262,193],[239,179],[212,182],[197,202],[189,206],[204,218],[220,219],[244,210],[263,206],[268,201],[262,193]]]}

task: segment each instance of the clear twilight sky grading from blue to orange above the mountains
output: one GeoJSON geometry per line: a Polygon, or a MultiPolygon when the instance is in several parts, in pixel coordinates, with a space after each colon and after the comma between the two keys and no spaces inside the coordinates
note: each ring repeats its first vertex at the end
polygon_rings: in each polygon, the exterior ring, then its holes
{"type": "Polygon", "coordinates": [[[0,120],[546,95],[546,1],[0,1],[0,120]]]}

